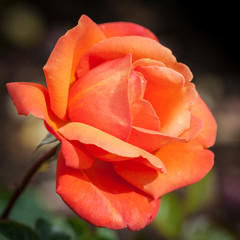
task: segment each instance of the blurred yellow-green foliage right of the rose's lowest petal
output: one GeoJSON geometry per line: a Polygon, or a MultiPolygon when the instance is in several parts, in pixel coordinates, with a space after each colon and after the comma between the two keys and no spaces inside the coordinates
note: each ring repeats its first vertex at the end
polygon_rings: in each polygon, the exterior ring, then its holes
{"type": "Polygon", "coordinates": [[[237,240],[236,233],[220,226],[209,209],[219,198],[214,171],[200,182],[162,197],[154,228],[169,240],[237,240]]]}

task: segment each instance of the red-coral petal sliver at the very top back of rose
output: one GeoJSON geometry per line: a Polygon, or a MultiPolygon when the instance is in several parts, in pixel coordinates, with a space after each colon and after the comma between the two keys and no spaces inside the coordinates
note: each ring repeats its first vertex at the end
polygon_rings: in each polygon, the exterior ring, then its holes
{"type": "Polygon", "coordinates": [[[130,22],[103,23],[99,27],[107,38],[123,36],[142,36],[158,41],[157,37],[147,28],[130,22]]]}

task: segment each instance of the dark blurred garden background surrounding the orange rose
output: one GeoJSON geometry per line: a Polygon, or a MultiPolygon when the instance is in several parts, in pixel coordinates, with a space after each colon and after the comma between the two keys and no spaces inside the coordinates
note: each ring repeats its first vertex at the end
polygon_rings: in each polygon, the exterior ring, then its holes
{"type": "MultiPolygon", "coordinates": [[[[97,230],[101,239],[240,239],[240,21],[233,1],[0,0],[0,210],[32,158],[46,149],[32,155],[46,130],[40,120],[17,115],[5,84],[45,85],[42,67],[57,39],[82,14],[97,23],[130,21],[152,30],[190,67],[197,90],[218,122],[211,173],[198,184],[164,196],[158,217],[144,230],[97,230]]],[[[78,226],[76,231],[92,231],[77,222],[56,195],[55,163],[46,168],[33,179],[11,217],[31,227],[36,219],[48,219],[66,234],[71,232],[69,224],[78,226]],[[61,216],[68,219],[68,227],[61,216]]]]}

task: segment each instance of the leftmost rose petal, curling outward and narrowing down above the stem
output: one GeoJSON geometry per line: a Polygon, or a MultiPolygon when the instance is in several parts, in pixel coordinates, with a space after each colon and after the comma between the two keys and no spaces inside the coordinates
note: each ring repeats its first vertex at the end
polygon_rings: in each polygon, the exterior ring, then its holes
{"type": "Polygon", "coordinates": [[[58,127],[65,123],[59,120],[49,109],[47,89],[35,83],[8,83],[7,88],[19,114],[33,114],[45,120],[47,130],[62,143],[66,165],[73,168],[86,169],[94,163],[93,157],[79,142],[69,142],[57,133],[58,127]]]}

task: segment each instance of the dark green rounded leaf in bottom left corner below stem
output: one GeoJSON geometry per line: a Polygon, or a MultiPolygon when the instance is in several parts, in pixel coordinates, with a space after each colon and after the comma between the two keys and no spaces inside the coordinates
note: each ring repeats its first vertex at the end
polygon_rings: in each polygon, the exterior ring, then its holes
{"type": "Polygon", "coordinates": [[[1,221],[0,233],[10,240],[38,240],[30,227],[14,221],[1,221]]]}

